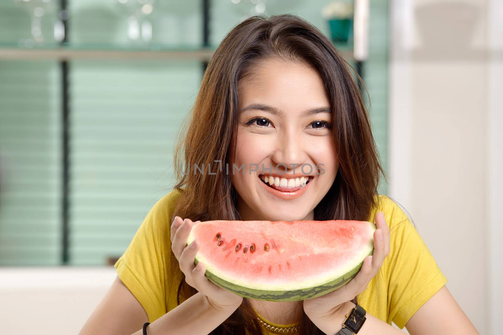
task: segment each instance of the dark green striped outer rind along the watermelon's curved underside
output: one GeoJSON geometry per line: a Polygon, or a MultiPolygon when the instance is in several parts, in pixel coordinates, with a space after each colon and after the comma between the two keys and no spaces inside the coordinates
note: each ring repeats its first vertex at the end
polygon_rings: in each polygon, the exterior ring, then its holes
{"type": "MultiPolygon", "coordinates": [[[[369,255],[372,255],[373,252],[374,249],[372,249],[369,255]]],[[[195,259],[194,264],[197,265],[197,263],[198,260],[195,259]]],[[[362,264],[363,260],[353,270],[349,271],[342,277],[327,282],[326,284],[288,291],[268,291],[239,286],[223,280],[208,270],[206,270],[205,275],[215,285],[245,298],[266,301],[299,301],[327,294],[346,285],[357,275],[358,271],[360,271],[360,268],[362,267],[362,264]]]]}

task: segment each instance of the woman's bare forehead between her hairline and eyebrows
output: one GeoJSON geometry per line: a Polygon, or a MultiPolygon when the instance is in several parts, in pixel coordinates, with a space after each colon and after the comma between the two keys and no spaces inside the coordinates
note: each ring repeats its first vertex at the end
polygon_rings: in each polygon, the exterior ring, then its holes
{"type": "Polygon", "coordinates": [[[289,112],[330,105],[321,76],[302,62],[261,62],[239,82],[238,93],[240,110],[250,104],[289,112]]]}

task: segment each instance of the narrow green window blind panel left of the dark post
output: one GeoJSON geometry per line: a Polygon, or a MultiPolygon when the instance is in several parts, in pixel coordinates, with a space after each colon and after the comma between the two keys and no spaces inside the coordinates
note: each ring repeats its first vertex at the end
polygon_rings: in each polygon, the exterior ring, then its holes
{"type": "Polygon", "coordinates": [[[0,265],[60,261],[57,62],[0,62],[0,265]]]}

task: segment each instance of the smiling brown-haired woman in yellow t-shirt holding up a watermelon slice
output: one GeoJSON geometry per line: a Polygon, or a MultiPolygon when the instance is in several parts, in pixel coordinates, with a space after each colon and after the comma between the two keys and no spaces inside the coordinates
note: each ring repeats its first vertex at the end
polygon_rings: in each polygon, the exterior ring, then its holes
{"type": "Polygon", "coordinates": [[[82,335],[139,335],[144,324],[149,335],[336,334],[357,303],[367,318],[359,334],[401,333],[391,321],[414,335],[477,333],[403,211],[377,194],[384,172],[358,87],[304,20],[256,16],[228,33],[204,75],[175,169],[175,190],[115,264],[118,277],[82,335]],[[334,219],[375,222],[374,253],[347,285],[304,301],[221,289],[203,263],[194,266],[197,240],[186,246],[191,220],[334,219]]]}

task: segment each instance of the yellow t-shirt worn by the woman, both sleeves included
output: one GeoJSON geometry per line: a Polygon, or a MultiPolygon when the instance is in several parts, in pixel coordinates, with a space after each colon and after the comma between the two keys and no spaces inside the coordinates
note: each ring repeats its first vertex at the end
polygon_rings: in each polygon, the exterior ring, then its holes
{"type": "MultiPolygon", "coordinates": [[[[120,279],[141,303],[149,322],[177,306],[178,280],[166,268],[171,264],[171,217],[179,196],[178,191],[170,192],[152,207],[115,264],[120,279]]],[[[374,222],[378,211],[384,213],[391,232],[390,252],[378,274],[358,295],[358,302],[367,313],[403,328],[447,279],[400,207],[384,195],[379,196],[379,203],[368,221],[374,222]]],[[[262,319],[276,326],[295,325],[262,319]]]]}

